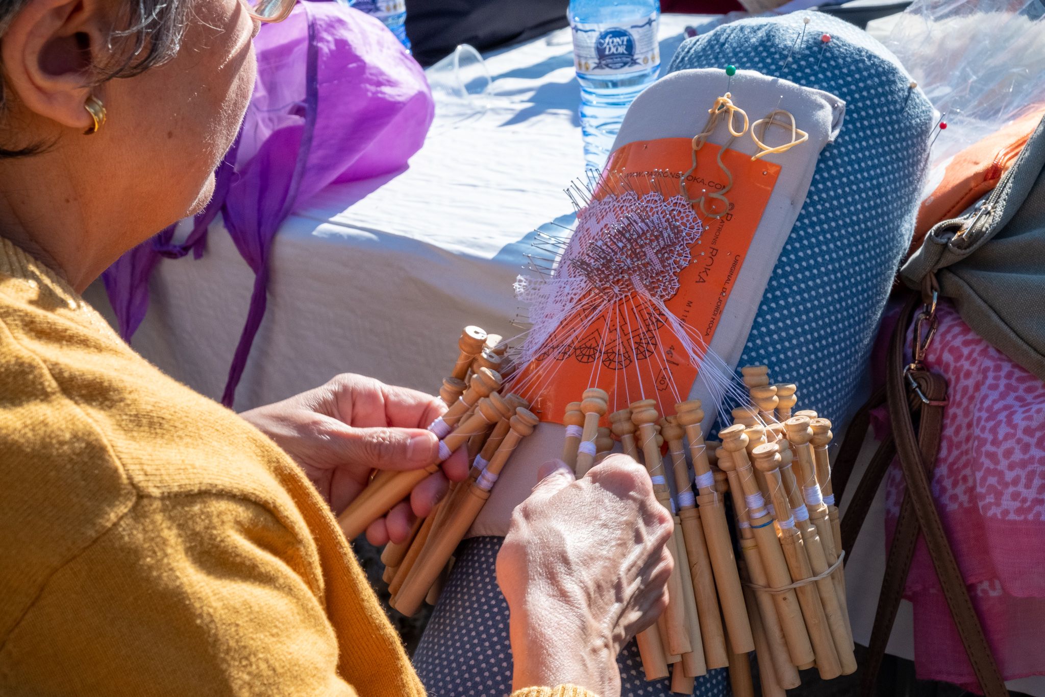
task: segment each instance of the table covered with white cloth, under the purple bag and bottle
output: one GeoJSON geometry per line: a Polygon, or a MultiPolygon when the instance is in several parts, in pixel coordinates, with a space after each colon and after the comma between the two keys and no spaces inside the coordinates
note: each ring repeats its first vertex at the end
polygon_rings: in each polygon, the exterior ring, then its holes
{"type": "MultiPolygon", "coordinates": [[[[664,68],[683,28],[707,19],[661,17],[664,68]]],[[[568,29],[487,55],[494,96],[471,110],[439,97],[436,121],[408,168],[329,187],[284,223],[237,410],[285,398],[339,372],[435,392],[456,357],[461,327],[512,335],[512,283],[531,252],[533,230],[572,220],[562,189],[583,172],[572,55],[568,29]]],[[[252,284],[253,274],[216,222],[203,259],[159,265],[133,346],[219,398],[252,284]]],[[[87,298],[112,317],[100,284],[87,298]]],[[[885,561],[883,521],[876,517],[846,565],[854,631],[863,643],[885,561]]],[[[911,627],[905,602],[890,653],[911,657],[911,627]]],[[[1019,689],[1045,694],[1038,687],[1019,689]]]]}

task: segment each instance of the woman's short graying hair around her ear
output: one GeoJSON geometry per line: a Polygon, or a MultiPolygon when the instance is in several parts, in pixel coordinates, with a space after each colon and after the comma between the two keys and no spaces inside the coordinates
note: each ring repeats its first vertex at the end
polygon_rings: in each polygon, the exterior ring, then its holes
{"type": "MultiPolygon", "coordinates": [[[[0,0],[0,39],[15,16],[29,0],[0,0]]],[[[132,77],[170,60],[181,47],[193,0],[127,0],[124,11],[109,34],[111,60],[95,66],[92,84],[114,77],[132,77]]],[[[0,85],[0,106],[3,103],[0,85]]],[[[16,149],[0,146],[0,158],[39,153],[41,145],[16,149]]]]}

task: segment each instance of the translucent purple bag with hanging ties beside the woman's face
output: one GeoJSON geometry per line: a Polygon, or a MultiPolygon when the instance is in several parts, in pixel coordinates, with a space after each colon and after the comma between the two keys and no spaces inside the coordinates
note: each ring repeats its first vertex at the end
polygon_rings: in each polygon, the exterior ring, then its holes
{"type": "Polygon", "coordinates": [[[124,254],[103,274],[127,342],[148,307],[148,277],[160,257],[200,258],[218,212],[254,271],[254,291],[222,402],[231,406],[264,317],[269,254],[279,226],[333,182],[403,167],[432,124],[421,67],[378,20],[336,2],[301,2],[255,39],[258,79],[236,144],[217,170],[214,198],[180,243],[171,226],[124,254]]]}

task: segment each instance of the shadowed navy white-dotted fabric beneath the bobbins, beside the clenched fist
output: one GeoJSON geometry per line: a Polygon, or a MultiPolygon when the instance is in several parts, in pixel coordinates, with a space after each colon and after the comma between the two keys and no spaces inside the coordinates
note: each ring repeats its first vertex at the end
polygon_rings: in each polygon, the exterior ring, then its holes
{"type": "MultiPolygon", "coordinates": [[[[508,604],[494,575],[502,539],[473,537],[458,549],[454,572],[414,654],[414,667],[432,697],[500,697],[511,693],[508,604]]],[[[673,694],[668,679],[646,681],[634,641],[625,647],[617,663],[622,695],[673,694]]],[[[728,692],[725,669],[697,678],[693,690],[699,697],[724,697],[728,692]]]]}

